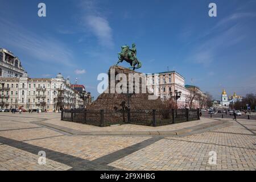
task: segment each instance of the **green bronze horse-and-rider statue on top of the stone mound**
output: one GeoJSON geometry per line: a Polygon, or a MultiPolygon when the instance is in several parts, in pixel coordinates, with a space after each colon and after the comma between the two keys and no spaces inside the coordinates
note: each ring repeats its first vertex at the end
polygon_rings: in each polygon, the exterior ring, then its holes
{"type": "Polygon", "coordinates": [[[133,44],[133,47],[130,49],[129,46],[122,46],[122,51],[118,53],[118,63],[122,63],[123,60],[125,60],[127,63],[130,63],[131,67],[134,69],[139,69],[141,68],[142,64],[141,62],[137,59],[137,50],[136,50],[136,45],[133,44]],[[137,67],[135,67],[137,65],[137,67]]]}

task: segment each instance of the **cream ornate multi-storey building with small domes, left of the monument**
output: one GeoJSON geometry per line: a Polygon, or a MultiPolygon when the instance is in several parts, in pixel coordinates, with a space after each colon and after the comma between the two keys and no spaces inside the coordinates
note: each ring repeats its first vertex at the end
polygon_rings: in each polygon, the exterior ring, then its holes
{"type": "Polygon", "coordinates": [[[83,103],[69,80],[59,73],[56,78],[0,78],[0,108],[42,109],[47,111],[73,109],[83,103]]]}

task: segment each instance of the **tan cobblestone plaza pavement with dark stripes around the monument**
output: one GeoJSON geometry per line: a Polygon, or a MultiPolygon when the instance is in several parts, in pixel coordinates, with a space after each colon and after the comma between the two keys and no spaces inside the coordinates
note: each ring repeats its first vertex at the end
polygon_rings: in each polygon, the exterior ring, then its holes
{"type": "Polygon", "coordinates": [[[79,131],[176,130],[213,122],[148,127],[96,127],[60,121],[60,113],[0,113],[0,170],[255,170],[256,121],[187,137],[71,135],[40,122],[79,131]],[[39,151],[46,164],[38,164],[39,151]],[[216,164],[210,151],[216,152],[216,164]],[[214,160],[213,160],[214,161],[214,160]]]}

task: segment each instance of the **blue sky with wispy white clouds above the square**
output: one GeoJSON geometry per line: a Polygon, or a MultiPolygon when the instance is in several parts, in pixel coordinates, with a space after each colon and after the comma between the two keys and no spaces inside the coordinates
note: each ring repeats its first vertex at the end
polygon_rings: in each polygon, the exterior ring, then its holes
{"type": "MultiPolygon", "coordinates": [[[[186,84],[220,99],[256,94],[256,1],[3,1],[0,47],[30,77],[78,78],[97,93],[97,75],[117,62],[123,44],[137,44],[139,72],[175,70],[186,84]],[[47,16],[39,18],[38,4],[47,16]],[[208,5],[217,5],[217,17],[208,5]]],[[[127,67],[126,63],[122,66],[127,67]]]]}

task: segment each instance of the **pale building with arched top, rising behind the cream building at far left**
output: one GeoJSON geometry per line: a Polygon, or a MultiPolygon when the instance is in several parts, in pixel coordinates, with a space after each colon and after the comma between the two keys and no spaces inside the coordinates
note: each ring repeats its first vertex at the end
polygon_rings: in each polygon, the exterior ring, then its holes
{"type": "Polygon", "coordinates": [[[7,49],[0,49],[0,78],[22,77],[24,69],[18,57],[7,49]]]}

